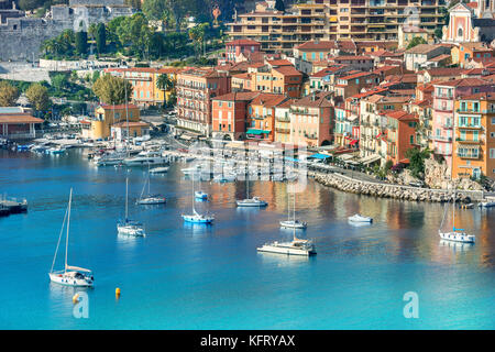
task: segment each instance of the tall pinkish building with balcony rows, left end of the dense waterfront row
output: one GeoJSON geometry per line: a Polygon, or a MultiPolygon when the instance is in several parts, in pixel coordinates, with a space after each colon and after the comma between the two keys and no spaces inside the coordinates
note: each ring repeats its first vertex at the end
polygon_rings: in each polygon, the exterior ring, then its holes
{"type": "Polygon", "coordinates": [[[211,98],[230,92],[231,77],[208,68],[177,74],[177,125],[205,136],[211,134],[211,98]]]}

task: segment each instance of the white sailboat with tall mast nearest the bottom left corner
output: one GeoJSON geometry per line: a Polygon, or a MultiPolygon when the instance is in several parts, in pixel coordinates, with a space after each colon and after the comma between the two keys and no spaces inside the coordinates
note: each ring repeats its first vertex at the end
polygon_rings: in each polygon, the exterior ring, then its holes
{"type": "Polygon", "coordinates": [[[53,257],[52,268],[50,270],[48,276],[52,283],[65,285],[65,286],[74,286],[74,287],[92,287],[95,283],[95,278],[92,276],[92,272],[88,268],[72,266],[67,264],[67,253],[68,253],[68,235],[70,228],[70,205],[73,201],[73,189],[70,188],[70,196],[67,206],[67,210],[65,212],[64,222],[62,224],[61,234],[58,235],[57,248],[55,250],[55,255],[53,257]],[[58,246],[61,244],[62,234],[64,232],[65,220],[67,219],[67,235],[65,240],[65,265],[64,270],[54,272],[53,267],[55,266],[55,260],[57,257],[58,246]]]}

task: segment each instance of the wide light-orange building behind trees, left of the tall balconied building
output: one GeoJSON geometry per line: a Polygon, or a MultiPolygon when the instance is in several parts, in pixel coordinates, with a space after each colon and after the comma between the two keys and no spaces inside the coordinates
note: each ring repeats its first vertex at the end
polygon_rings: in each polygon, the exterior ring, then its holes
{"type": "Polygon", "coordinates": [[[105,73],[123,78],[132,85],[132,102],[140,107],[161,106],[166,102],[174,92],[174,86],[178,68],[164,67],[130,67],[106,68],[105,73]],[[158,78],[166,75],[172,86],[166,89],[158,87],[158,78]]]}

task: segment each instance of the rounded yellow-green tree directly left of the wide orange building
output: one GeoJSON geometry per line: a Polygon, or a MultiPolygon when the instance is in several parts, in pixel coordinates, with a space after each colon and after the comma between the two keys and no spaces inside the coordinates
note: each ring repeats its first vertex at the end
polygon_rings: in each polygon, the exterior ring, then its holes
{"type": "Polygon", "coordinates": [[[95,81],[92,91],[100,101],[108,105],[119,105],[131,100],[132,85],[123,78],[105,75],[95,81]]]}

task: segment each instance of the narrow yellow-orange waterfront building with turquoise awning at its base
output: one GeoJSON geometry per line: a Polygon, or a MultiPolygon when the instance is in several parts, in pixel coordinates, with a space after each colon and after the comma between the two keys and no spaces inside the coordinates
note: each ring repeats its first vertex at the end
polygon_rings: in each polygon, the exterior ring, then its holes
{"type": "Polygon", "coordinates": [[[275,108],[288,100],[284,95],[262,94],[248,107],[246,139],[273,142],[275,140],[275,108]]]}

